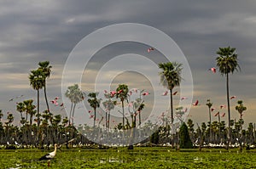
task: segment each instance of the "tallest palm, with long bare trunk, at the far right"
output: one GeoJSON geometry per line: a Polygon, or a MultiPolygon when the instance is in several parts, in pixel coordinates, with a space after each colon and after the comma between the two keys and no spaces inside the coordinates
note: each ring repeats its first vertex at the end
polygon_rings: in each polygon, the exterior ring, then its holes
{"type": "Polygon", "coordinates": [[[229,74],[240,69],[237,62],[236,48],[218,48],[216,58],[218,71],[222,76],[226,76],[227,102],[228,102],[228,118],[229,118],[229,142],[231,138],[230,128],[230,90],[229,90],[229,74]]]}

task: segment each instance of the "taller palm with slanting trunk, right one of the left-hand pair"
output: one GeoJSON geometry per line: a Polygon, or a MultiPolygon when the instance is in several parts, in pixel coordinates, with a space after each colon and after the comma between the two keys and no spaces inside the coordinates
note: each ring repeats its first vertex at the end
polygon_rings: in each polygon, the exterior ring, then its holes
{"type": "Polygon", "coordinates": [[[52,66],[49,65],[49,61],[39,62],[38,65],[40,66],[38,69],[41,69],[44,72],[44,99],[47,106],[47,110],[49,111],[49,104],[46,94],[46,79],[50,76],[52,66]]]}

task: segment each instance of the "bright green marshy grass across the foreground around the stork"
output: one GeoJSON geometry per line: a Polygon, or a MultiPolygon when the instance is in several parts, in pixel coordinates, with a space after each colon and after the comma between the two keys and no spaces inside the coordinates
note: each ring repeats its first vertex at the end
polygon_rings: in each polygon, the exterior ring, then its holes
{"type": "MultiPolygon", "coordinates": [[[[49,168],[256,168],[256,151],[238,149],[181,149],[136,147],[58,150],[49,168]]],[[[1,168],[47,168],[38,161],[49,150],[0,149],[1,168]]]]}

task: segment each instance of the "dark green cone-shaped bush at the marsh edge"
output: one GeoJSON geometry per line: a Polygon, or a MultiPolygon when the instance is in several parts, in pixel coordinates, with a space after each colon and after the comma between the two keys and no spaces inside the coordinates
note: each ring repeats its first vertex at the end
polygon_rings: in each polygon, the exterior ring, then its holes
{"type": "Polygon", "coordinates": [[[193,144],[189,137],[189,129],[186,123],[183,122],[183,125],[179,130],[179,146],[181,149],[191,149],[193,148],[193,144]]]}

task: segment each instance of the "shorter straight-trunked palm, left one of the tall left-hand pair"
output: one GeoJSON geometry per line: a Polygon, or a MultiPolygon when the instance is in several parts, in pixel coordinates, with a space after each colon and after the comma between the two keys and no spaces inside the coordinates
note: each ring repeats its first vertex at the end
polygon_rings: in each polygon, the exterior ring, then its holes
{"type": "Polygon", "coordinates": [[[30,85],[33,89],[37,90],[38,92],[38,127],[40,125],[39,119],[39,90],[44,87],[44,71],[41,69],[38,70],[31,70],[29,75],[30,85]]]}

